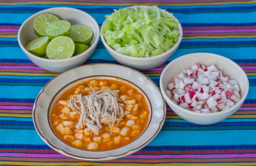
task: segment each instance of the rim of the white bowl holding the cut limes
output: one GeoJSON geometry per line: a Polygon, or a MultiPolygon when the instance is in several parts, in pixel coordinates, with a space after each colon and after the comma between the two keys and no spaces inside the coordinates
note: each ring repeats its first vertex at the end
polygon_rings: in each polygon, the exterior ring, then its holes
{"type": "Polygon", "coordinates": [[[17,34],[17,39],[18,39],[18,43],[19,43],[20,48],[22,48],[22,50],[24,51],[24,53],[26,55],[29,55],[29,56],[31,56],[35,59],[42,60],[42,61],[45,61],[45,62],[67,62],[67,61],[70,61],[70,59],[79,59],[79,57],[83,57],[84,54],[93,50],[97,46],[97,43],[99,42],[99,36],[100,36],[99,35],[99,24],[97,24],[97,21],[91,15],[89,15],[87,12],[84,12],[83,10],[79,10],[77,8],[56,7],[56,8],[47,8],[45,10],[40,10],[39,12],[35,12],[33,15],[31,15],[29,18],[27,18],[22,23],[22,26],[19,27],[18,34],[17,34]],[[23,46],[23,44],[21,42],[22,28],[24,28],[24,26],[27,24],[27,22],[31,21],[31,19],[34,19],[35,17],[37,17],[38,15],[41,15],[43,13],[51,12],[52,10],[72,10],[72,11],[79,12],[79,13],[89,17],[91,20],[93,20],[93,23],[96,26],[97,34],[95,34],[95,42],[93,42],[93,44],[91,46],[89,46],[89,48],[86,51],[84,51],[83,53],[80,53],[79,55],[76,55],[76,56],[73,56],[73,57],[68,57],[68,58],[65,58],[65,59],[46,59],[46,58],[38,57],[38,56],[33,55],[32,53],[30,53],[28,50],[26,50],[26,48],[23,46]]]}

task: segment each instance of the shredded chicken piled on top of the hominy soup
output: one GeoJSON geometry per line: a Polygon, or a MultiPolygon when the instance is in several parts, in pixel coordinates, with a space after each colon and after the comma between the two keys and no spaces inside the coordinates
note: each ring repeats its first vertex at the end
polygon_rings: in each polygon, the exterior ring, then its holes
{"type": "MultiPolygon", "coordinates": [[[[94,90],[94,89],[93,89],[94,90]]],[[[77,95],[70,98],[70,108],[80,114],[78,125],[88,127],[95,135],[102,128],[102,123],[109,124],[111,129],[115,122],[119,122],[124,116],[123,105],[118,91],[102,90],[93,91],[90,95],[77,95]]]]}

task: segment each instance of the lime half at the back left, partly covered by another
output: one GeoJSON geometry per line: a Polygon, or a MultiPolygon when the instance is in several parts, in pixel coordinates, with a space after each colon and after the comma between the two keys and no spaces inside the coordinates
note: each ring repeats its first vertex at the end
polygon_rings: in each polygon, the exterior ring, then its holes
{"type": "Polygon", "coordinates": [[[45,33],[45,29],[49,24],[54,21],[58,21],[58,17],[56,17],[56,15],[51,15],[48,13],[35,17],[35,20],[33,22],[35,34],[38,35],[38,37],[47,36],[45,33]]]}

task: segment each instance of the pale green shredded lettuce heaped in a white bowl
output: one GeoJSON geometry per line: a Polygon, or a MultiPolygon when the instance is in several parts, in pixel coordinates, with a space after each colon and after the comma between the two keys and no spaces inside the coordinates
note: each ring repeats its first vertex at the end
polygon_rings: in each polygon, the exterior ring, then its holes
{"type": "Polygon", "coordinates": [[[157,6],[122,8],[107,15],[102,24],[106,43],[118,53],[152,57],[172,48],[179,39],[178,22],[157,6]]]}

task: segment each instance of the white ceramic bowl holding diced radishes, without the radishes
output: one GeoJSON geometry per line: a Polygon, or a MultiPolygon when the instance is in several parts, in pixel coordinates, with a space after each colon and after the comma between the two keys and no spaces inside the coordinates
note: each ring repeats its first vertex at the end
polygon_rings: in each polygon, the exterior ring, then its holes
{"type": "Polygon", "coordinates": [[[241,107],[248,94],[249,82],[243,69],[232,60],[221,55],[211,53],[192,53],[178,57],[163,69],[160,77],[160,88],[163,98],[178,116],[195,124],[214,124],[228,118],[241,107]],[[173,102],[173,100],[170,100],[166,95],[166,90],[172,77],[180,73],[183,69],[191,68],[195,63],[204,64],[206,66],[214,64],[218,70],[223,72],[223,75],[228,75],[230,79],[237,80],[241,89],[241,100],[237,102],[237,104],[234,104],[230,109],[216,113],[195,113],[179,107],[175,102],[173,102]]]}

